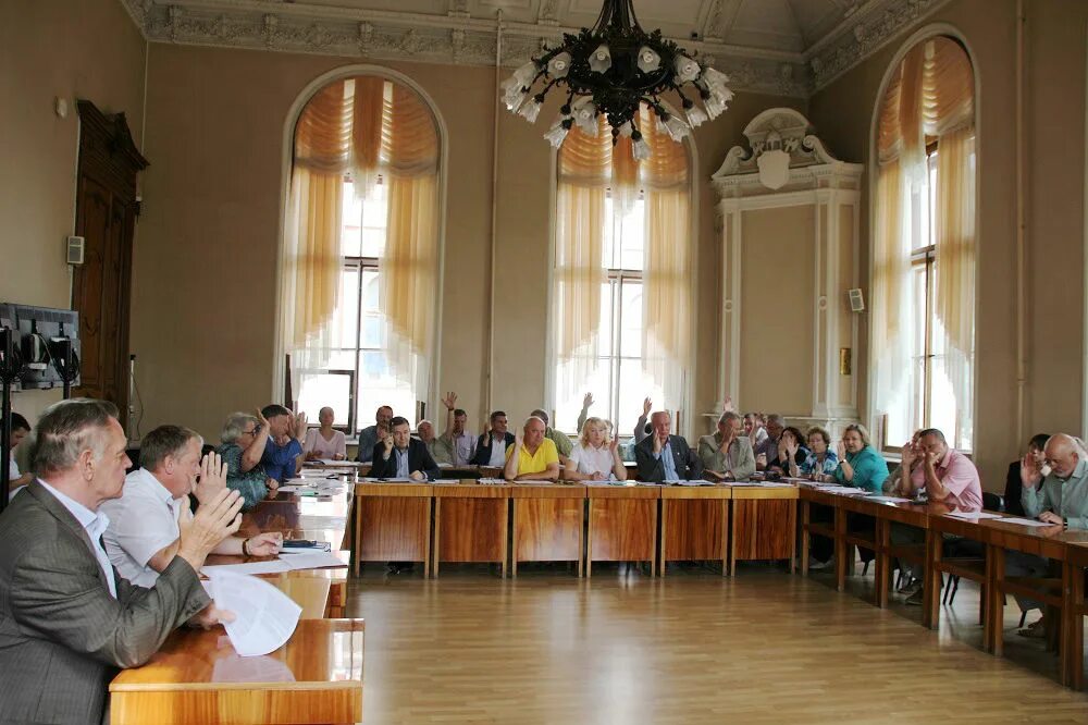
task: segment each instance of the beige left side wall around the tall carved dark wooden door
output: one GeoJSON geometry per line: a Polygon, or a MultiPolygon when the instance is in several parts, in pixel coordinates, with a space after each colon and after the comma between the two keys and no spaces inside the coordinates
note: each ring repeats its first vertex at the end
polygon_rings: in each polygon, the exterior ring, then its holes
{"type": "MultiPolygon", "coordinates": [[[[116,0],[0,0],[0,300],[69,307],[75,99],[123,111],[139,145],[143,94],[144,40],[116,0]],[[66,119],[53,111],[57,97],[67,102],[66,119]]],[[[26,391],[13,407],[33,422],[59,398],[26,391]]]]}

